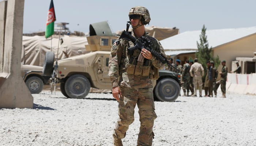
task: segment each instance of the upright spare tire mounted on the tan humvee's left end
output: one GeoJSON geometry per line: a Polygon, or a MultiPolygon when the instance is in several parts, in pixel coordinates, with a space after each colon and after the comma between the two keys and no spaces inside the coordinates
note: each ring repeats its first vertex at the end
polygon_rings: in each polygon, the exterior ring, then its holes
{"type": "Polygon", "coordinates": [[[45,61],[43,65],[43,74],[45,76],[51,76],[53,72],[53,64],[54,64],[54,53],[51,51],[48,51],[45,54],[45,61]]]}

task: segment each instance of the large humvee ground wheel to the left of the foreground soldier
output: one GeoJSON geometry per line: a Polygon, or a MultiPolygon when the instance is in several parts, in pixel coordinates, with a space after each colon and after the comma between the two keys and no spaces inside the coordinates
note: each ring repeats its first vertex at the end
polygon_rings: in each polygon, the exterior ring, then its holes
{"type": "Polygon", "coordinates": [[[67,79],[64,87],[68,97],[82,99],[88,95],[91,85],[85,76],[75,74],[67,79]]]}

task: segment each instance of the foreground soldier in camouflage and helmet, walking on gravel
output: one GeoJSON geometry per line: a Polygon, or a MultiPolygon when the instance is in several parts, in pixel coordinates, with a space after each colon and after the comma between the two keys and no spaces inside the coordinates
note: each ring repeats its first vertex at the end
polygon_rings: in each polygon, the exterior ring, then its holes
{"type": "MultiPolygon", "coordinates": [[[[142,36],[151,40],[152,49],[164,53],[162,45],[145,32],[144,25],[150,22],[148,9],[141,6],[132,7],[129,19],[133,30],[131,35],[136,38],[142,36]]],[[[114,146],[123,146],[121,139],[125,137],[129,125],[134,121],[134,108],[137,104],[140,116],[140,130],[137,146],[151,146],[154,138],[153,125],[157,118],[153,98],[152,80],[157,79],[158,69],[164,64],[157,60],[150,51],[134,50],[128,53],[128,48],[134,44],[127,39],[117,39],[111,49],[109,58],[109,77],[112,81],[112,94],[118,101],[118,115],[116,127],[113,131],[114,146]],[[144,62],[138,61],[142,57],[144,62]],[[137,63],[135,63],[137,62],[137,63]]]]}

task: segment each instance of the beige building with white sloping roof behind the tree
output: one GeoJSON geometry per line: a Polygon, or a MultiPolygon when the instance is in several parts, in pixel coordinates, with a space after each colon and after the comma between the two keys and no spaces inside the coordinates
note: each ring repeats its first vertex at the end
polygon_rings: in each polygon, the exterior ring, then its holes
{"type": "MultiPolygon", "coordinates": [[[[197,42],[200,43],[200,31],[187,31],[173,37],[160,41],[165,53],[174,59],[180,59],[184,64],[185,59],[195,58],[197,42]]],[[[212,54],[219,59],[226,60],[228,71],[231,71],[232,61],[237,57],[254,57],[256,52],[256,27],[230,28],[219,30],[206,30],[209,47],[212,47],[212,54]]],[[[255,62],[243,63],[242,65],[255,66],[255,62]]],[[[218,70],[221,70],[219,65],[218,70]]],[[[247,67],[245,67],[247,68],[247,67]]],[[[244,70],[244,72],[246,71],[244,70]]],[[[251,73],[255,73],[251,72],[251,73]]]]}

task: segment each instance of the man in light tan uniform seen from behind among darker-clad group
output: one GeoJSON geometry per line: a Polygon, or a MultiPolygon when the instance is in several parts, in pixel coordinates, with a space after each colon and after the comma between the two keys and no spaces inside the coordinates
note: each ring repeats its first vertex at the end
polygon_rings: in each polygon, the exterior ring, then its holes
{"type": "Polygon", "coordinates": [[[202,75],[204,74],[204,68],[202,64],[198,63],[198,59],[195,58],[195,63],[191,65],[191,68],[189,70],[190,76],[193,77],[193,84],[194,84],[194,94],[192,95],[193,97],[196,97],[196,89],[197,85],[199,87],[199,97],[202,97],[202,86],[203,86],[203,81],[202,81],[202,75]]]}

